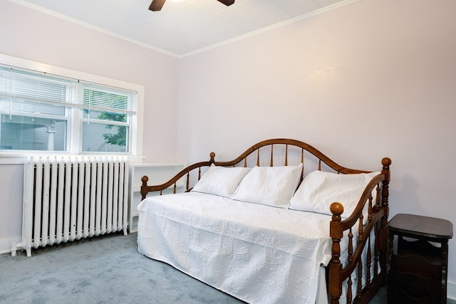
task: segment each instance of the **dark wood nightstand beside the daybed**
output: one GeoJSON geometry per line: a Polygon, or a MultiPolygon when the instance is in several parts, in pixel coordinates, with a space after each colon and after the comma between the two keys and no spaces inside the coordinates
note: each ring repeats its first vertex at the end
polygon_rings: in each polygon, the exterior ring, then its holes
{"type": "Polygon", "coordinates": [[[447,303],[450,221],[397,214],[388,224],[388,303],[447,303]],[[394,237],[398,236],[394,250],[394,237]]]}

